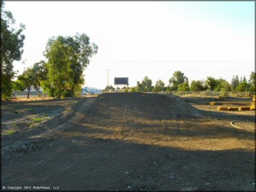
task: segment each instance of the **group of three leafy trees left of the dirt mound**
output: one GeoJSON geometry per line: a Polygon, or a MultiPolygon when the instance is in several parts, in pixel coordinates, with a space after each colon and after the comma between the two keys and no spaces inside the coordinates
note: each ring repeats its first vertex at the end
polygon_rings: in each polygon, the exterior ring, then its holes
{"type": "Polygon", "coordinates": [[[46,44],[44,56],[47,61],[38,61],[21,75],[13,70],[13,61],[20,61],[24,52],[22,35],[25,26],[14,28],[15,19],[10,11],[4,10],[1,0],[1,97],[8,99],[14,90],[42,87],[51,97],[73,97],[82,90],[82,75],[90,59],[98,51],[98,46],[82,33],[73,37],[51,37],[46,44]],[[14,78],[17,80],[14,81],[14,78]]]}

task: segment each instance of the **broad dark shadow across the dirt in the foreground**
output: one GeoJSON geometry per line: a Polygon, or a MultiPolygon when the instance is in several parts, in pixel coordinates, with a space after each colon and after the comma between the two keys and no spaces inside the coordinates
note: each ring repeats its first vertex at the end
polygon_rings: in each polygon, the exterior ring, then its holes
{"type": "Polygon", "coordinates": [[[188,151],[80,136],[72,140],[62,140],[26,162],[3,166],[2,184],[56,185],[68,191],[255,189],[251,151],[188,151]]]}

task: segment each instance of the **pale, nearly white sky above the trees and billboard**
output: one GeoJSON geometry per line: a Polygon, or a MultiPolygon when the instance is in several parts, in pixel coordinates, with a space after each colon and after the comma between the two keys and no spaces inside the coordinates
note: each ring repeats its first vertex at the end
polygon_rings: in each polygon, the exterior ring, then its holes
{"type": "Polygon", "coordinates": [[[98,53],[84,86],[105,88],[114,77],[136,86],[147,75],[169,83],[176,70],[189,81],[231,81],[255,71],[255,1],[6,1],[24,23],[24,53],[14,70],[46,60],[53,36],[86,33],[98,53]]]}

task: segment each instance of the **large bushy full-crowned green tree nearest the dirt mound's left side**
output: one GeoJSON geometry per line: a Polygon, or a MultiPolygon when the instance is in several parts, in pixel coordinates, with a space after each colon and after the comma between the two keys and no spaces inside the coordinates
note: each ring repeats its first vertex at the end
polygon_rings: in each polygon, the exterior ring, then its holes
{"type": "Polygon", "coordinates": [[[84,84],[82,73],[97,51],[98,46],[84,33],[49,39],[44,53],[48,59],[46,90],[58,98],[75,95],[84,84]]]}

